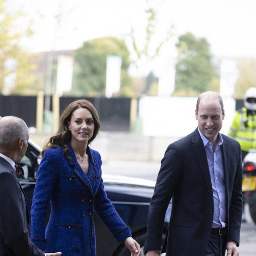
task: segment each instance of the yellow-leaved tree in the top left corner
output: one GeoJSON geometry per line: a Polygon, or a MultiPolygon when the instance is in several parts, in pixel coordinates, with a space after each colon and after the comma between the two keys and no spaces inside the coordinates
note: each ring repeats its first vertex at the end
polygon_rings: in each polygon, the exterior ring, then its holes
{"type": "Polygon", "coordinates": [[[17,24],[23,17],[22,11],[12,14],[6,4],[7,0],[0,0],[0,92],[4,90],[6,94],[35,94],[35,66],[30,62],[30,54],[20,47],[20,40],[29,36],[31,30],[29,27],[20,29],[17,24]]]}

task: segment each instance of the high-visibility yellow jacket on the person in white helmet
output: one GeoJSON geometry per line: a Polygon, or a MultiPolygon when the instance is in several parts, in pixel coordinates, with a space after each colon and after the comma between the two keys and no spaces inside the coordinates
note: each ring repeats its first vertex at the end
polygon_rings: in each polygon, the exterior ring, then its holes
{"type": "Polygon", "coordinates": [[[237,110],[228,136],[240,143],[242,151],[256,148],[256,113],[248,114],[245,107],[237,110]]]}

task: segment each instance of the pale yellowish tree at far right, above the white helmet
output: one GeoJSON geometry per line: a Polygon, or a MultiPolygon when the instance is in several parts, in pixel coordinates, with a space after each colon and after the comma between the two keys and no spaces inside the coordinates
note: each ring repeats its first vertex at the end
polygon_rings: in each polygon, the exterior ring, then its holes
{"type": "Polygon", "coordinates": [[[239,77],[235,84],[234,98],[244,98],[249,87],[256,87],[256,58],[238,58],[237,69],[239,77]]]}

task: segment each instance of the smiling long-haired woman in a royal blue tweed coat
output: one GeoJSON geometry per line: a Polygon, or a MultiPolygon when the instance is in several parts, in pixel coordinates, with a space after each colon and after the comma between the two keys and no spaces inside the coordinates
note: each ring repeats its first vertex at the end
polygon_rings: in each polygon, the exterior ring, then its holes
{"type": "Polygon", "coordinates": [[[60,117],[58,132],[42,151],[31,207],[31,239],[44,252],[95,256],[95,211],[117,242],[124,241],[132,256],[140,255],[139,244],[105,193],[101,156],[88,146],[99,128],[98,113],[90,102],[72,102],[60,117]]]}

